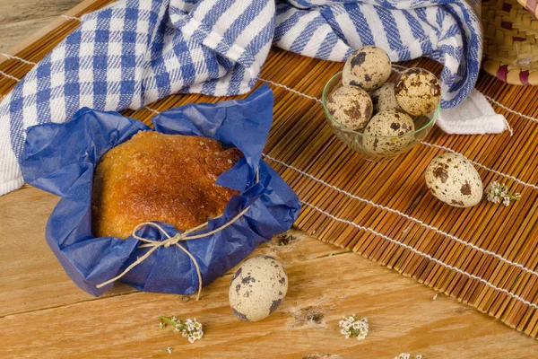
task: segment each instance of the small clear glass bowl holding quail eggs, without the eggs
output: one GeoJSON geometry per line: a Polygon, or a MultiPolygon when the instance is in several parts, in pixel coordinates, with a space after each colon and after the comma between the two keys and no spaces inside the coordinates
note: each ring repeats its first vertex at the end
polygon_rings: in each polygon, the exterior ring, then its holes
{"type": "MultiPolygon", "coordinates": [[[[392,66],[392,73],[386,81],[387,83],[397,83],[400,79],[400,74],[404,72],[407,67],[404,66],[392,66]]],[[[337,88],[342,86],[342,72],[335,74],[326,84],[323,90],[323,109],[325,111],[325,118],[327,123],[332,128],[333,133],[344,144],[362,155],[366,160],[381,162],[392,160],[401,153],[407,153],[412,150],[416,144],[419,144],[430,133],[433,124],[438,117],[440,106],[432,111],[430,114],[421,117],[413,117],[415,124],[415,131],[408,132],[401,136],[372,136],[365,135],[359,131],[354,131],[348,127],[344,127],[329,113],[325,100],[337,88]],[[378,142],[390,142],[393,145],[390,151],[376,152],[371,144],[378,142]],[[397,143],[397,144],[396,144],[397,143]],[[396,144],[396,145],[394,145],[396,144]]],[[[384,146],[386,148],[387,146],[384,146]]]]}

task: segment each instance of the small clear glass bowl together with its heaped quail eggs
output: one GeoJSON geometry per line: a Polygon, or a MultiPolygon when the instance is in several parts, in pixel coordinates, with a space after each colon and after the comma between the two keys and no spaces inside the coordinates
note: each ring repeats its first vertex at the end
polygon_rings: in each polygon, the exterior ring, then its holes
{"type": "Polygon", "coordinates": [[[409,152],[428,136],[440,99],[434,74],[392,65],[386,52],[373,46],[355,51],[323,92],[334,135],[375,162],[409,152]]]}

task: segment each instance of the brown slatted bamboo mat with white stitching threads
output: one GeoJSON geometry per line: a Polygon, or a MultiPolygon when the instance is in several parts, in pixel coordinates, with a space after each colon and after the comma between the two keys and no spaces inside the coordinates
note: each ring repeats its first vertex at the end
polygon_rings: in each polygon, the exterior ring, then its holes
{"type": "MultiPolygon", "coordinates": [[[[86,1],[68,14],[81,16],[109,3],[86,1]]],[[[38,62],[77,25],[76,19],[58,19],[43,38],[12,55],[38,62]]],[[[427,59],[404,65],[435,73],[441,69],[427,59]]],[[[21,78],[32,66],[9,59],[0,63],[0,71],[21,78]]],[[[508,118],[514,136],[508,132],[447,136],[436,127],[410,153],[392,162],[373,163],[333,136],[316,101],[326,81],[342,67],[273,49],[261,75],[272,82],[275,97],[266,161],[305,202],[296,226],[536,337],[538,122],[534,118],[538,116],[538,88],[512,86],[481,74],[477,88],[482,93],[525,114],[496,106],[508,118]],[[508,207],[482,202],[467,209],[439,202],[427,190],[423,173],[430,160],[445,151],[463,153],[475,163],[485,186],[493,180],[506,183],[513,192],[521,192],[521,201],[508,207]]],[[[0,95],[15,84],[0,74],[0,95]]],[[[124,113],[150,124],[153,111],[222,100],[178,94],[147,109],[124,113]]],[[[313,270],[338,273],[338,268],[313,270]]]]}

